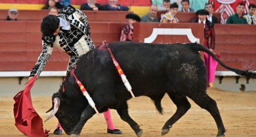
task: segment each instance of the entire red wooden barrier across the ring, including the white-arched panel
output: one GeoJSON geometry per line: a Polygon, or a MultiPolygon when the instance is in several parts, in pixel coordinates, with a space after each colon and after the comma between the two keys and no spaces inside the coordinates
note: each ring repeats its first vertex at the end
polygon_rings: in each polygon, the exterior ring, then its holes
{"type": "MultiPolygon", "coordinates": [[[[0,71],[30,71],[41,53],[41,21],[0,21],[0,71]]],[[[91,36],[95,44],[119,41],[125,22],[90,22],[91,36]]],[[[144,42],[153,28],[192,28],[192,33],[203,43],[203,26],[197,23],[136,23],[134,40],[144,42]],[[139,26],[139,27],[138,27],[139,26]]],[[[215,52],[221,53],[221,60],[230,67],[242,70],[256,70],[256,33],[253,25],[215,24],[215,52]]],[[[159,35],[153,43],[186,43],[184,36],[159,35]]],[[[66,70],[68,55],[54,49],[45,70],[66,70]]],[[[217,70],[226,70],[218,66],[217,70]]]]}

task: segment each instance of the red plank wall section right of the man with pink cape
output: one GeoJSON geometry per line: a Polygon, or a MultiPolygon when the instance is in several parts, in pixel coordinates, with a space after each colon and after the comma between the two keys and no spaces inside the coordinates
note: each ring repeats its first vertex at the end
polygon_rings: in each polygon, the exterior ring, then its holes
{"type": "MultiPolygon", "coordinates": [[[[216,47],[221,60],[230,67],[256,70],[256,26],[215,24],[216,47]]],[[[220,65],[217,70],[226,70],[220,65]]]]}

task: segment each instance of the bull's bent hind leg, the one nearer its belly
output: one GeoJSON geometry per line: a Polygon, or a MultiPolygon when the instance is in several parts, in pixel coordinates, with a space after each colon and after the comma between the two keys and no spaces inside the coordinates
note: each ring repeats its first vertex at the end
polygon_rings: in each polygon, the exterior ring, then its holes
{"type": "Polygon", "coordinates": [[[173,116],[166,121],[162,128],[162,135],[165,135],[166,133],[169,132],[169,128],[180,119],[191,107],[190,103],[188,102],[188,99],[184,95],[177,95],[174,93],[167,93],[173,103],[177,106],[177,110],[173,116]]]}

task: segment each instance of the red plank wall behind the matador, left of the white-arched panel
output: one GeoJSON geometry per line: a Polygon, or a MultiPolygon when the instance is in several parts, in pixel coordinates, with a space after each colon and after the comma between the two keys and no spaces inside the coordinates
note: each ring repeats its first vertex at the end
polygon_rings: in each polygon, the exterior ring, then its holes
{"type": "MultiPolygon", "coordinates": [[[[30,71],[42,51],[40,21],[0,21],[0,71],[30,71]]],[[[95,45],[119,41],[124,22],[90,22],[95,45]]],[[[68,55],[54,49],[44,70],[66,70],[68,55]]]]}

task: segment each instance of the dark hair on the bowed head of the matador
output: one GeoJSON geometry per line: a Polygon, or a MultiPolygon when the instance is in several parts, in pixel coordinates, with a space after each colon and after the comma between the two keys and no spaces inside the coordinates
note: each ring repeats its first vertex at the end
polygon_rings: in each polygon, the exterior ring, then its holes
{"type": "Polygon", "coordinates": [[[42,19],[41,32],[43,36],[53,36],[59,27],[59,18],[55,15],[47,15],[42,19]]]}

